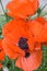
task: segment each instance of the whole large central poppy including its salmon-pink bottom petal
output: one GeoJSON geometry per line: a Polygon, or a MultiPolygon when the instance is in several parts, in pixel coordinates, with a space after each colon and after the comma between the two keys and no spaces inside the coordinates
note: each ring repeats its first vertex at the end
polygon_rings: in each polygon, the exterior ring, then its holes
{"type": "Polygon", "coordinates": [[[36,70],[42,63],[42,45],[34,42],[26,22],[12,20],[3,26],[2,33],[4,52],[11,59],[17,58],[15,66],[24,71],[36,70]]]}

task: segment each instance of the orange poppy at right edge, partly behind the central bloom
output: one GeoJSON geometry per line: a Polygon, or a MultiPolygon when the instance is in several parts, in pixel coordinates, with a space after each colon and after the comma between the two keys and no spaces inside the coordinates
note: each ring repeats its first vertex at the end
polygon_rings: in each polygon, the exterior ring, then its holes
{"type": "Polygon", "coordinates": [[[47,22],[44,17],[36,17],[28,23],[30,32],[33,33],[35,42],[47,42],[47,22]]]}

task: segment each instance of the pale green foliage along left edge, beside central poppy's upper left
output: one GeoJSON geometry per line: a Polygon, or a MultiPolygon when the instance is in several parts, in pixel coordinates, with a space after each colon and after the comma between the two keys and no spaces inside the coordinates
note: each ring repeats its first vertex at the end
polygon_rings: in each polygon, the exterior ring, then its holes
{"type": "Polygon", "coordinates": [[[10,20],[12,20],[12,17],[8,16],[5,17],[4,14],[0,15],[0,38],[2,38],[2,27],[4,24],[7,24],[10,20]]]}

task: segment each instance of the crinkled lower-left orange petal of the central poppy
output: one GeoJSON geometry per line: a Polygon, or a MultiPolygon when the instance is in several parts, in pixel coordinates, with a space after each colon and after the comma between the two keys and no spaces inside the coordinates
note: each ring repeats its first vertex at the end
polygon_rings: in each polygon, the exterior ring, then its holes
{"type": "Polygon", "coordinates": [[[17,48],[16,46],[12,46],[11,44],[8,44],[5,40],[7,39],[3,39],[2,45],[3,45],[4,52],[9,58],[15,59],[19,57],[20,54],[24,55],[24,52],[20,48],[17,48]]]}

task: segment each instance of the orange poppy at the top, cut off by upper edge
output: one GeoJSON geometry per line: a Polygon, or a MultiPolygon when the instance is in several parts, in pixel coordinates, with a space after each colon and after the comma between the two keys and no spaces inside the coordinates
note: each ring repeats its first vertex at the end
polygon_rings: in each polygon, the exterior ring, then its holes
{"type": "Polygon", "coordinates": [[[13,0],[7,4],[8,15],[25,19],[33,15],[39,5],[38,0],[13,0]]]}

